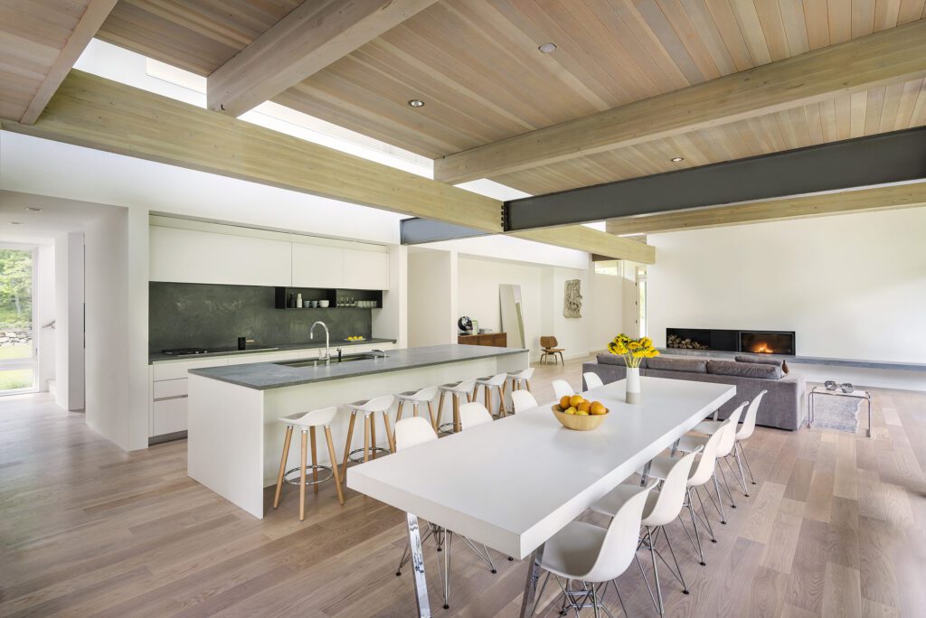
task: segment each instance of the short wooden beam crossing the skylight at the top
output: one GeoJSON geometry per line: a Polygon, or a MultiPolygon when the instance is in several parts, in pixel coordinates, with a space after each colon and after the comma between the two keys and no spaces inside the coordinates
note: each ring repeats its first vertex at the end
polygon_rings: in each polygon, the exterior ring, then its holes
{"type": "Polygon", "coordinates": [[[206,105],[241,116],[437,0],[307,0],[206,80],[206,105]]]}

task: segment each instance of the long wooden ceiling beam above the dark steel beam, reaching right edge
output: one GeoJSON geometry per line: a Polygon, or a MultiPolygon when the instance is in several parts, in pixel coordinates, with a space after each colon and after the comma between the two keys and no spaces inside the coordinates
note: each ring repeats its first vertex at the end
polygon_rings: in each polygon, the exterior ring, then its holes
{"type": "Polygon", "coordinates": [[[434,178],[493,178],[922,77],[926,19],[448,154],[434,178]]]}

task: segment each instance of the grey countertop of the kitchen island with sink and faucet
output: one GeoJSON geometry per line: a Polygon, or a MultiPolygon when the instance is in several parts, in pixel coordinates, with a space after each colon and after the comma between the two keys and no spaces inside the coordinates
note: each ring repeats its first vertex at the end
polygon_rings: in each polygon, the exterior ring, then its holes
{"type": "Polygon", "coordinates": [[[190,373],[248,389],[265,390],[522,352],[528,351],[520,348],[493,348],[477,345],[433,345],[425,348],[392,350],[386,352],[385,358],[352,361],[343,364],[289,367],[275,363],[254,363],[191,369],[190,373]]]}

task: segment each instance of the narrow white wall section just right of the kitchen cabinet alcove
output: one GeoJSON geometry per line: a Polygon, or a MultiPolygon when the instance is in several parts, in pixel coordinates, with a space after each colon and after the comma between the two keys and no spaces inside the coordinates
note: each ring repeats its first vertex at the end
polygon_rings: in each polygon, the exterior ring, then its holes
{"type": "Polygon", "coordinates": [[[408,252],[408,346],[456,343],[457,253],[408,252]]]}

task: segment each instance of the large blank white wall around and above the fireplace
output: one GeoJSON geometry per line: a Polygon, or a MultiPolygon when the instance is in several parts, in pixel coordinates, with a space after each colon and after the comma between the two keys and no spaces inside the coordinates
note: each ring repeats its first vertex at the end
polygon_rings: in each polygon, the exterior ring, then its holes
{"type": "Polygon", "coordinates": [[[926,208],[649,237],[650,333],[794,330],[803,356],[926,362],[926,208]]]}

